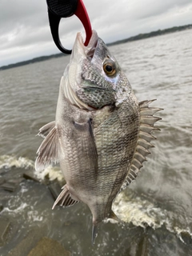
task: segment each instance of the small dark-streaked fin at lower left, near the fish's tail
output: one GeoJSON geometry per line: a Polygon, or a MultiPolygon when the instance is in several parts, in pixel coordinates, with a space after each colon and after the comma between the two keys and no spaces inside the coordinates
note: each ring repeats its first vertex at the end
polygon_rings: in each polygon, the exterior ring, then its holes
{"type": "Polygon", "coordinates": [[[73,206],[75,203],[78,203],[78,201],[74,200],[70,196],[70,192],[67,189],[66,185],[62,187],[62,192],[58,195],[58,198],[54,202],[54,206],[52,209],[54,209],[55,206],[73,206]]]}

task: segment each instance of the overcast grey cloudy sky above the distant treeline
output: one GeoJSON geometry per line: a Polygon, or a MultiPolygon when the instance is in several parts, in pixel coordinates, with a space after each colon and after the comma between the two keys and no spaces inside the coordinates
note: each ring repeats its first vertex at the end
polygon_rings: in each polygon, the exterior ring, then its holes
{"type": "MultiPolygon", "coordinates": [[[[56,1],[56,0],[55,0],[56,1]]],[[[192,23],[191,0],[84,0],[92,28],[105,42],[192,23]]],[[[83,28],[75,16],[62,18],[60,38],[71,48],[83,28]]],[[[46,0],[0,0],[0,66],[57,54],[46,0]]]]}

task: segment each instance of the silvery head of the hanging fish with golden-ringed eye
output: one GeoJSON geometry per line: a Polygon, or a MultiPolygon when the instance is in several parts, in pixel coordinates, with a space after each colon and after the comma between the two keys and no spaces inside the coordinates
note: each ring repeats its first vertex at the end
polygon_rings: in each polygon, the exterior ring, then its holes
{"type": "Polygon", "coordinates": [[[94,30],[88,46],[84,46],[82,35],[77,34],[63,77],[66,98],[86,110],[118,106],[122,102],[119,96],[130,90],[126,75],[94,30]]]}

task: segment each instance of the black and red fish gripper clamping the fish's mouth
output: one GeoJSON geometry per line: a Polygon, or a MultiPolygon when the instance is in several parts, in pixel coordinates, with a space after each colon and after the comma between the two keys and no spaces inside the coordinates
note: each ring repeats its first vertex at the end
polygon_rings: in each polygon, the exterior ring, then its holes
{"type": "Polygon", "coordinates": [[[58,49],[64,54],[71,54],[72,50],[67,50],[62,46],[59,39],[58,26],[61,18],[67,18],[74,14],[81,20],[82,25],[86,30],[86,42],[84,44],[87,46],[90,42],[92,30],[90,26],[90,18],[82,0],[46,0],[46,2],[48,6],[50,31],[58,49]]]}

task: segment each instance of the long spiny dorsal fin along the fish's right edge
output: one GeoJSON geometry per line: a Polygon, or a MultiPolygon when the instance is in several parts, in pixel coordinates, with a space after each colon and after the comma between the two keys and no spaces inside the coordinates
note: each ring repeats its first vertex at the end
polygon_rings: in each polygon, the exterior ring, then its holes
{"type": "Polygon", "coordinates": [[[149,107],[151,101],[143,101],[139,102],[139,110],[140,110],[140,127],[138,133],[138,144],[134,151],[134,157],[132,159],[130,169],[128,170],[128,174],[126,176],[126,180],[122,183],[122,187],[119,190],[119,193],[126,189],[126,186],[130,185],[130,182],[133,182],[134,179],[138,176],[139,170],[142,168],[142,163],[146,161],[146,156],[150,154],[149,149],[154,147],[151,144],[151,140],[155,139],[151,132],[153,130],[160,130],[157,127],[154,127],[154,123],[162,118],[154,117],[154,113],[162,110],[156,107],[149,107]]]}

